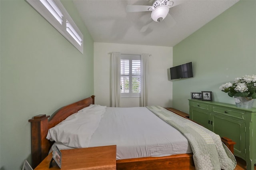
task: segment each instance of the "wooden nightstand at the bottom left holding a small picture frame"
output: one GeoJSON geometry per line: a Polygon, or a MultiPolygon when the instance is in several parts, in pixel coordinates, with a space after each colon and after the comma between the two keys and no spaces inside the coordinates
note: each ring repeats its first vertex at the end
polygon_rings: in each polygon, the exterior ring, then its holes
{"type": "MultiPolygon", "coordinates": [[[[116,145],[60,150],[61,170],[116,170],[116,145]]],[[[49,168],[50,153],[34,170],[60,170],[57,164],[49,168]]]]}

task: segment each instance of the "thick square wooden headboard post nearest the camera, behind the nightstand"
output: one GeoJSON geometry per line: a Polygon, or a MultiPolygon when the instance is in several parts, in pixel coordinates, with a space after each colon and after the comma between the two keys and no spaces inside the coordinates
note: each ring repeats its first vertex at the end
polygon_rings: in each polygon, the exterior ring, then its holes
{"type": "Polygon", "coordinates": [[[48,118],[50,116],[37,115],[28,122],[31,124],[31,156],[32,168],[36,166],[48,155],[44,148],[50,147],[50,142],[45,140],[48,132],[48,118]]]}

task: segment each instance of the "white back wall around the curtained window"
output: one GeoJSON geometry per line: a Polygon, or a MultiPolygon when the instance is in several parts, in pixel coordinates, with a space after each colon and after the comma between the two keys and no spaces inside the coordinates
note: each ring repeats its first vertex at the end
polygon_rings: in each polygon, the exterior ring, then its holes
{"type": "MultiPolygon", "coordinates": [[[[94,95],[95,103],[110,106],[110,54],[121,52],[151,54],[149,58],[148,105],[172,107],[172,47],[94,43],[94,95]]],[[[139,107],[139,98],[121,98],[121,107],[139,107]]]]}

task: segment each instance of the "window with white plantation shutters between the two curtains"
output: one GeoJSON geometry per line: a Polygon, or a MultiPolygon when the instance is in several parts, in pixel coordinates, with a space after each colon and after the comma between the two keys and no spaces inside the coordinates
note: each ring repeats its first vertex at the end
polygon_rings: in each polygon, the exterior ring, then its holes
{"type": "Polygon", "coordinates": [[[120,57],[121,97],[140,97],[140,55],[120,57]]]}

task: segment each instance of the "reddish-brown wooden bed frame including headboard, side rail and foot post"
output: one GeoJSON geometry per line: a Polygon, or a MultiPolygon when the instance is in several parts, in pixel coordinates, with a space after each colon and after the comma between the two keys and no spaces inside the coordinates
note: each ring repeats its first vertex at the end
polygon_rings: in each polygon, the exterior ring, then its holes
{"type": "MultiPolygon", "coordinates": [[[[46,115],[37,115],[28,121],[31,123],[31,156],[32,168],[35,168],[46,156],[53,144],[46,139],[48,129],[54,127],[68,116],[76,113],[84,107],[94,104],[94,95],[64,106],[56,111],[51,117],[46,115]]],[[[231,151],[234,151],[234,144],[228,138],[222,138],[222,141],[231,151]]],[[[162,157],[146,157],[116,160],[117,170],[192,170],[195,169],[193,154],[177,154],[162,157]]]]}

